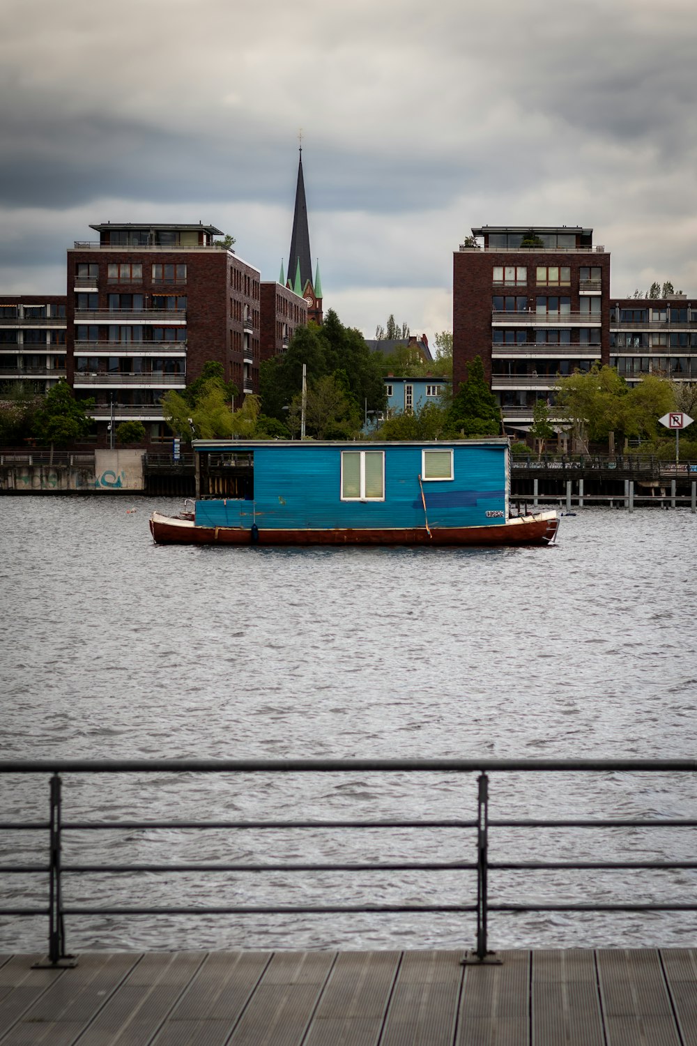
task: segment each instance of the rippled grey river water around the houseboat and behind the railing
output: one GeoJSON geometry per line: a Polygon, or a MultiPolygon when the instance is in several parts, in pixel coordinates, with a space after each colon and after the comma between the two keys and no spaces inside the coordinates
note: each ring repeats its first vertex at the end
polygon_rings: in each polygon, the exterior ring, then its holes
{"type": "MultiPolygon", "coordinates": [[[[180,502],[3,498],[4,758],[693,757],[697,517],[580,509],[556,548],[157,547],[180,502]],[[130,511],[129,509],[135,509],[130,511]]],[[[45,779],[0,782],[45,817],[45,779]]],[[[67,819],[464,817],[473,778],[66,780],[67,819]]],[[[498,775],[495,816],[697,816],[670,775],[498,775]]],[[[492,831],[492,859],[691,859],[690,829],[492,831]]],[[[3,860],[45,860],[6,834],[3,860]],[[10,856],[8,856],[10,855],[10,856]]],[[[64,860],[473,860],[471,833],[70,833],[64,860]],[[164,844],[164,845],[163,845],[164,844]]],[[[2,877],[0,907],[43,879],[2,877]],[[21,881],[20,881],[21,880],[21,881]],[[4,899],[4,900],[3,900],[4,899]]],[[[467,872],[67,879],[80,905],[470,903],[467,872]]],[[[501,900],[694,899],[695,872],[492,873],[501,900]]],[[[28,891],[28,892],[27,892],[28,891]]],[[[493,947],[695,945],[690,913],[493,915],[493,947]]],[[[45,948],[0,918],[0,948],[45,948]]],[[[470,947],[471,915],[74,916],[85,948],[470,947]]]]}

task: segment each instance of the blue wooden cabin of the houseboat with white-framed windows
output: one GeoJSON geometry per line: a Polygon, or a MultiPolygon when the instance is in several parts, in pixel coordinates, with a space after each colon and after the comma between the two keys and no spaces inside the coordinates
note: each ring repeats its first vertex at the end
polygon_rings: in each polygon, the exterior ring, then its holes
{"type": "Polygon", "coordinates": [[[447,444],[198,439],[193,449],[199,526],[423,527],[427,515],[433,529],[508,518],[505,437],[447,444]],[[243,487],[235,487],[236,497],[211,496],[209,477],[225,477],[226,470],[243,475],[243,487]]]}

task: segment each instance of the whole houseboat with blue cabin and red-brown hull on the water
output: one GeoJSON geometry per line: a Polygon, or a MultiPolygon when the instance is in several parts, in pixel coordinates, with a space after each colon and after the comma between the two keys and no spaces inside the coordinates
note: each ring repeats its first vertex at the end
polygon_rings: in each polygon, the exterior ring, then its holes
{"type": "Polygon", "coordinates": [[[199,439],[194,511],[160,544],[550,545],[556,511],[511,517],[509,442],[199,439]]]}

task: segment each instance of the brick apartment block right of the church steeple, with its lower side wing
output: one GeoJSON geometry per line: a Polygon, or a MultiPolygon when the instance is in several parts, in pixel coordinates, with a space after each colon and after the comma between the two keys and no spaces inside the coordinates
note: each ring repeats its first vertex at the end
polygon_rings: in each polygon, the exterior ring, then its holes
{"type": "Polygon", "coordinates": [[[554,407],[559,376],[596,360],[629,382],[697,381],[697,297],[612,296],[609,252],[589,228],[471,231],[454,256],[454,387],[481,356],[508,431],[529,428],[536,400],[554,407]]]}

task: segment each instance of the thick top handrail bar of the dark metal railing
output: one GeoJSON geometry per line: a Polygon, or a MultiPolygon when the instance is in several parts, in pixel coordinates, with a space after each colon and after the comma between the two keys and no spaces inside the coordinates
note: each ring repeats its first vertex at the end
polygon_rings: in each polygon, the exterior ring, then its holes
{"type": "Polygon", "coordinates": [[[2,759],[0,773],[694,773],[697,759],[2,759]]]}

